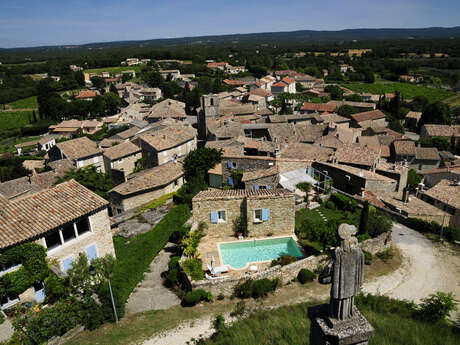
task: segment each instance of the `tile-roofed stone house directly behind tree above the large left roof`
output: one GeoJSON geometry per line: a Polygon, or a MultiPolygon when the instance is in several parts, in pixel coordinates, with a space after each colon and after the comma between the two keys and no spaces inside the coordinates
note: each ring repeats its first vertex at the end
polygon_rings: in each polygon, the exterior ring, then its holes
{"type": "Polygon", "coordinates": [[[98,148],[94,141],[87,137],[81,137],[56,144],[48,152],[48,155],[51,162],[68,159],[77,169],[94,165],[98,171],[105,172],[102,152],[102,149],[98,148]]]}

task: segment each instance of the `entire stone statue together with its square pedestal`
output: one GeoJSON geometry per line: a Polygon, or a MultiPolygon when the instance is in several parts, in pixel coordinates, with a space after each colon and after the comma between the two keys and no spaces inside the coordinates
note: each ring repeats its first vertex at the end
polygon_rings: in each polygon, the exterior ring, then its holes
{"type": "Polygon", "coordinates": [[[354,306],[354,297],[363,283],[364,254],[358,246],[356,227],[341,224],[340,247],[319,276],[322,284],[332,284],[329,304],[310,307],[311,345],[366,345],[375,330],[354,306]]]}

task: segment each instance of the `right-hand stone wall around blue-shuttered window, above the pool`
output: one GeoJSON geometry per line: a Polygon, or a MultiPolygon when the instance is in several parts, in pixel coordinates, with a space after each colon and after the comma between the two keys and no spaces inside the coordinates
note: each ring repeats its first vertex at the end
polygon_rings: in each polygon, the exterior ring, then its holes
{"type": "Polygon", "coordinates": [[[274,236],[293,233],[295,227],[295,199],[294,195],[271,199],[247,199],[247,220],[249,237],[264,237],[268,234],[274,236]],[[256,209],[268,208],[270,219],[256,221],[256,209]]]}

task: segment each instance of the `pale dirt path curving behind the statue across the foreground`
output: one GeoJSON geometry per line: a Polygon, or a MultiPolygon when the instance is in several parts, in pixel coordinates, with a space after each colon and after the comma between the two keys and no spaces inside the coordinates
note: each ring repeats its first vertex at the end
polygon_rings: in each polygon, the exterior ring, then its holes
{"type": "MultiPolygon", "coordinates": [[[[447,246],[433,243],[423,235],[401,224],[393,226],[393,242],[403,256],[401,266],[394,272],[376,278],[363,285],[363,291],[383,294],[398,299],[419,302],[421,298],[436,291],[453,292],[460,297],[460,255],[447,246]]],[[[291,289],[288,287],[286,289],[291,289]]],[[[280,298],[278,293],[264,303],[265,308],[326,299],[328,286],[315,286],[312,293],[301,293],[296,297],[280,298]],[[279,303],[279,301],[284,301],[279,303]]],[[[294,291],[291,291],[293,293],[294,291]]],[[[297,292],[297,291],[296,291],[297,292]]],[[[282,294],[282,292],[280,292],[282,294]]],[[[287,297],[287,296],[284,296],[287,297]]],[[[225,315],[228,319],[228,315],[225,315]]],[[[153,336],[142,345],[183,345],[192,338],[209,337],[214,315],[187,321],[180,326],[153,336]]]]}

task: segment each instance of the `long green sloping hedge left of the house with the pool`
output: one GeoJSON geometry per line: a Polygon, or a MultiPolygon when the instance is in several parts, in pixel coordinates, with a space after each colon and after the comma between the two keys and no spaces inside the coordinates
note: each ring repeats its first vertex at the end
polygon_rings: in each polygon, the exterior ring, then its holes
{"type": "Polygon", "coordinates": [[[123,303],[126,303],[131,292],[143,280],[144,272],[166,245],[170,235],[182,228],[189,217],[189,207],[179,205],[147,233],[132,238],[114,237],[117,264],[111,282],[123,303]]]}

